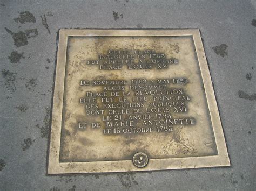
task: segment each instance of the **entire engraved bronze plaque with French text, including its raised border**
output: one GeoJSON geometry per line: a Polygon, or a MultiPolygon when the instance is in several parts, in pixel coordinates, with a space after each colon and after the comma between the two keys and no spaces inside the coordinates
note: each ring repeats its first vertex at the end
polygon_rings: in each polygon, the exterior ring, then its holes
{"type": "Polygon", "coordinates": [[[199,30],[60,30],[49,174],[230,166],[199,30]]]}

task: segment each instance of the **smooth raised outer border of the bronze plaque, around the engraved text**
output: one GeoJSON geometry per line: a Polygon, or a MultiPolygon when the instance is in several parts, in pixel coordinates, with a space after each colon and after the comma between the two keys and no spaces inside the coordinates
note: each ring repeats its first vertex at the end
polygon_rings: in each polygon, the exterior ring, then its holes
{"type": "Polygon", "coordinates": [[[48,174],[62,173],[97,173],[152,171],[161,169],[200,168],[230,166],[219,111],[212,87],[210,71],[198,29],[189,30],[60,30],[55,77],[55,90],[52,107],[51,139],[49,149],[48,174]],[[69,36],[86,37],[156,37],[156,36],[192,36],[196,47],[197,59],[203,80],[212,128],[218,155],[206,157],[186,157],[168,159],[150,159],[144,168],[133,165],[132,160],[97,161],[97,162],[59,162],[60,135],[62,128],[62,110],[64,96],[64,78],[67,43],[69,36]]]}

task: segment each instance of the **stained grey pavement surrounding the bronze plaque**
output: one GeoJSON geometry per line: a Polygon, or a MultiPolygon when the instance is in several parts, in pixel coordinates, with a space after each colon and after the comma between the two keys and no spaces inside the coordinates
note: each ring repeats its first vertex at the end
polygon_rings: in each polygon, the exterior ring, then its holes
{"type": "Polygon", "coordinates": [[[0,2],[0,190],[256,189],[256,1],[0,2]],[[64,28],[200,29],[232,166],[46,175],[64,28]]]}

